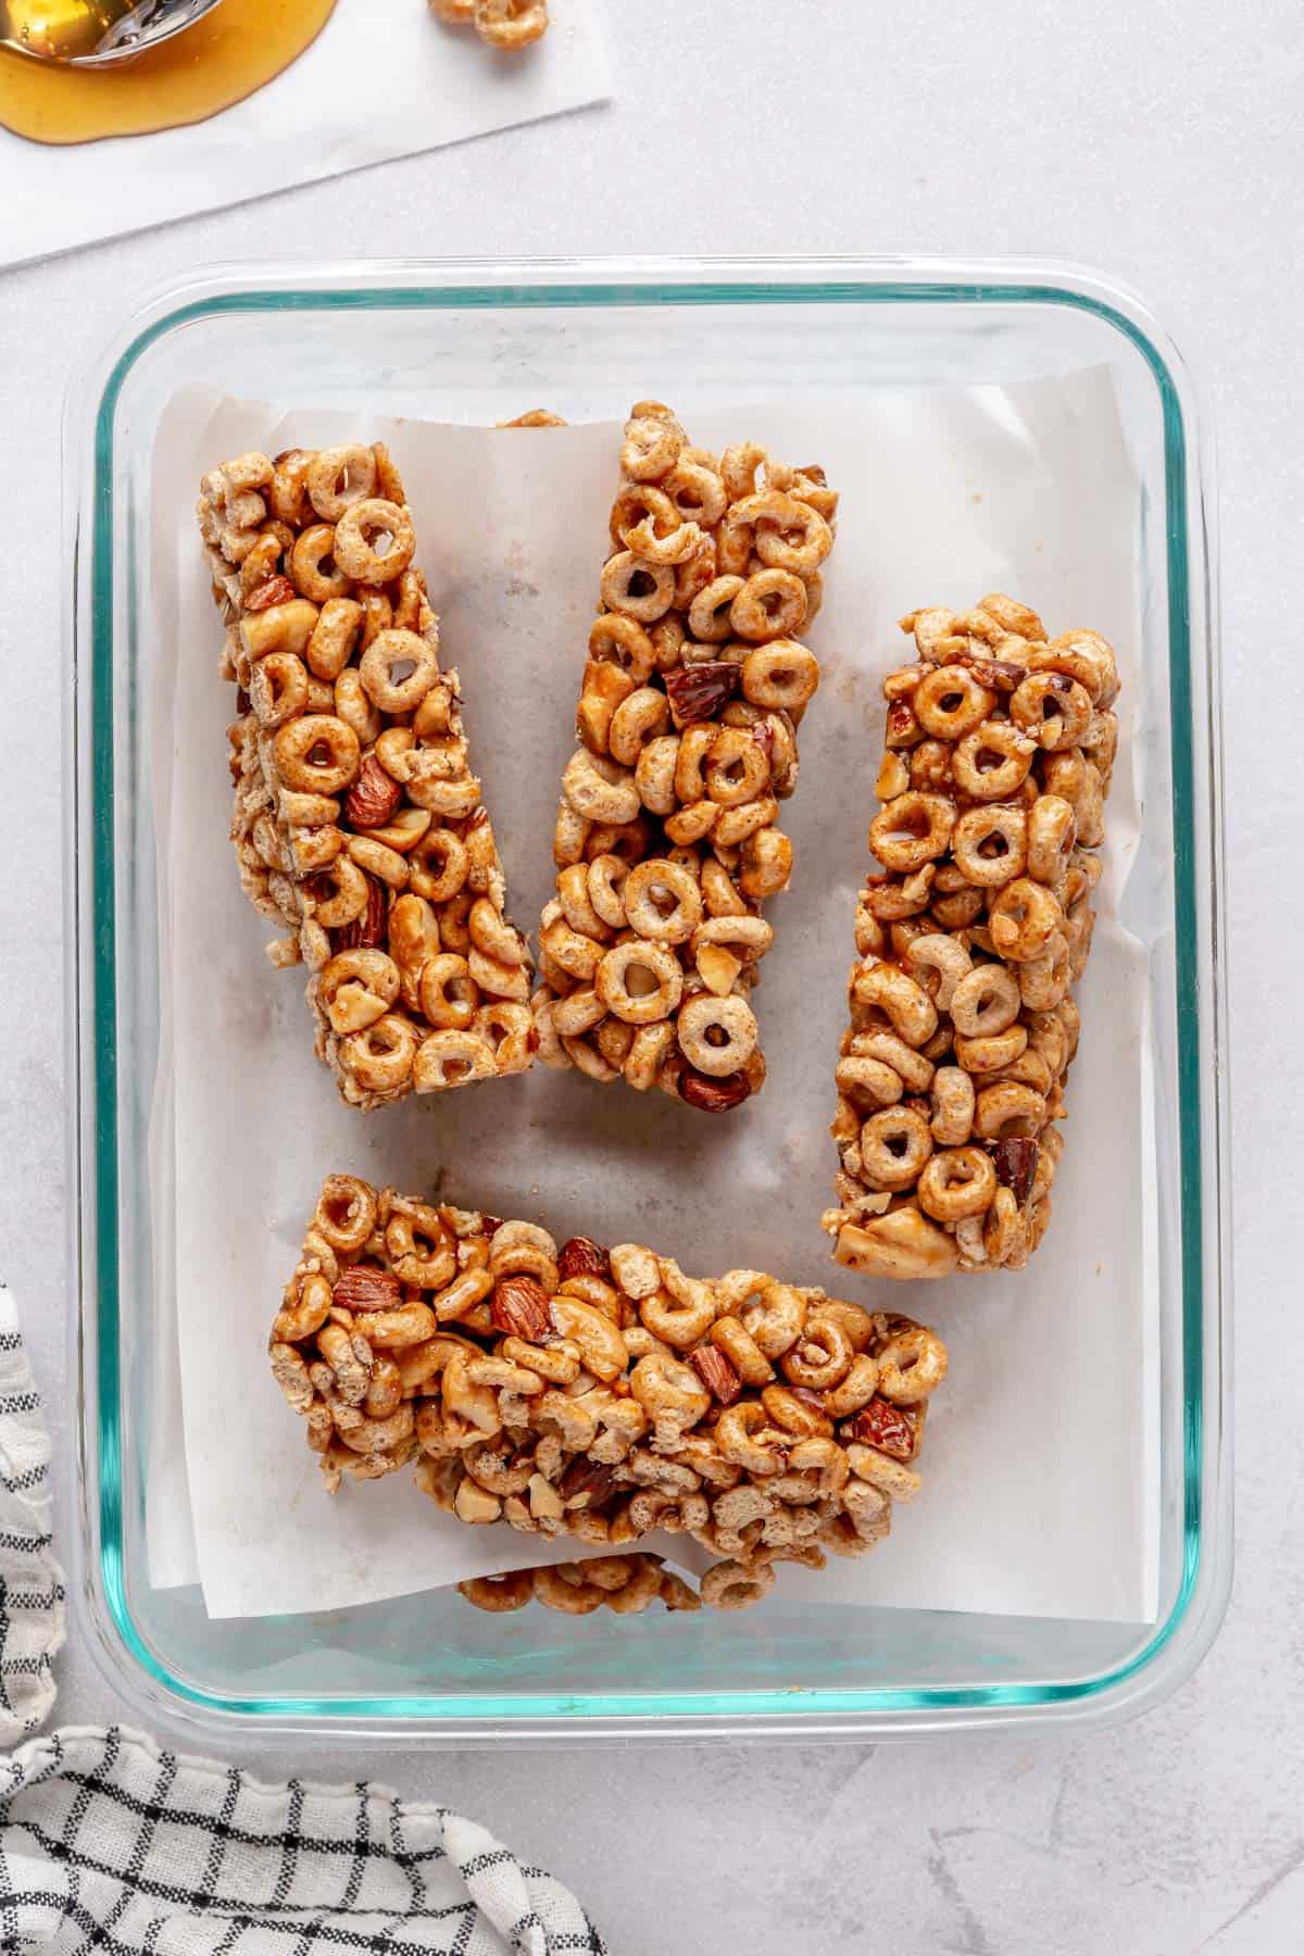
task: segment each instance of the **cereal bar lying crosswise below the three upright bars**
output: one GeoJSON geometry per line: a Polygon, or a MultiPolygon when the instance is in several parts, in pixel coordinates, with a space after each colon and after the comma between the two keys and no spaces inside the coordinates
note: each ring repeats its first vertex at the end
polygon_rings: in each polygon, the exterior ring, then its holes
{"type": "MultiPolygon", "coordinates": [[[[757,1269],[688,1277],[645,1244],[559,1244],[354,1176],[321,1191],[270,1354],[332,1492],[413,1465],[461,1522],[612,1557],[686,1534],[721,1557],[702,1580],[714,1608],[757,1602],[776,1563],[874,1549],[921,1485],[946,1375],[911,1318],[757,1269]]],[[[694,1608],[645,1565],[610,1608],[694,1608]]],[[[594,1569],[463,1594],[587,1614],[594,1569]]]]}

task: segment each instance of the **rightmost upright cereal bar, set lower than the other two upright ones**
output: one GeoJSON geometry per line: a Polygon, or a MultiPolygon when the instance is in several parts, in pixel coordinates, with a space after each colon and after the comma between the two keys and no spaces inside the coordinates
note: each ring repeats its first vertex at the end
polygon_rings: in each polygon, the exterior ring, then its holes
{"type": "Polygon", "coordinates": [[[1071,988],[1091,951],[1118,665],[1026,604],[901,620],[837,1062],[835,1258],[874,1277],[1021,1269],[1050,1222],[1071,988]]]}

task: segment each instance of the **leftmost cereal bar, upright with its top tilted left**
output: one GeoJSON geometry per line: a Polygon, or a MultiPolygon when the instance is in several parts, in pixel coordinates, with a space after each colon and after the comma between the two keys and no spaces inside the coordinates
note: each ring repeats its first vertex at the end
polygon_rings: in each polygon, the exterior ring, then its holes
{"type": "Polygon", "coordinates": [[[524,1072],[532,962],[383,442],[246,454],[203,477],[227,624],[231,839],[303,962],[317,1052],[379,1107],[524,1072]]]}

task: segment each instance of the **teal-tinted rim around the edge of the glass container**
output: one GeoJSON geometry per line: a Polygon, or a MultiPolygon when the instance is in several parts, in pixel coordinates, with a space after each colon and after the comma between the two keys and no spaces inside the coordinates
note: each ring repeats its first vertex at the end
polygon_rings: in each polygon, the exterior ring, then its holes
{"type": "MultiPolygon", "coordinates": [[[[903,262],[901,262],[903,264],[903,262]]],[[[827,262],[829,272],[843,270],[837,262],[827,262]]],[[[614,268],[614,276],[596,282],[555,280],[510,282],[413,282],[387,284],[387,276],[411,276],[413,266],[356,266],[344,276],[356,276],[358,284],[311,284],[311,272],[289,272],[283,284],[242,286],[233,289],[205,291],[199,297],[164,307],[137,331],[117,354],[94,403],[92,436],[92,481],[94,499],[90,509],[90,536],[80,530],[78,552],[90,546],[90,767],[88,792],[92,800],[92,863],[90,863],[90,902],[80,906],[70,896],[70,921],[76,931],[78,951],[82,933],[90,921],[88,956],[82,968],[90,980],[94,1054],[90,1064],[78,1048],[78,986],[70,988],[70,1045],[74,1064],[70,1078],[78,1082],[74,1123],[78,1133],[70,1134],[70,1156],[74,1166],[74,1217],[80,1219],[80,1240],[72,1246],[72,1267],[78,1279],[86,1271],[84,1232],[94,1226],[94,1283],[90,1299],[94,1303],[94,1336],[76,1342],[76,1359],[82,1373],[84,1404],[88,1408],[88,1430],[82,1445],[92,1449],[92,1459],[82,1459],[82,1547],[84,1547],[84,1594],[96,1616],[96,1604],[108,1610],[108,1623],[98,1622],[100,1641],[106,1645],[106,1631],[111,1625],[121,1651],[125,1651],[147,1680],[160,1686],[172,1706],[182,1712],[194,1710],[203,1715],[229,1719],[280,1721],[282,1725],[340,1729],[348,1725],[373,1733],[395,1731],[397,1727],[426,1727],[444,1723],[469,1735],[475,1729],[493,1729],[499,1735],[543,1737],[555,1731],[604,1727],[612,1733],[655,1731],[661,1721],[676,1721],[674,1731],[706,1731],[721,1723],[761,1721],[768,1737],[782,1733],[786,1725],[798,1725],[809,1733],[823,1719],[837,1719],[839,1729],[848,1727],[848,1719],[864,1721],[860,1729],[886,1729],[891,1717],[884,1713],[933,1713],[938,1723],[962,1721],[983,1723],[985,1715],[1009,1715],[1028,1708],[1060,1708],[1060,1713],[1108,1712],[1114,1702],[1138,1704],[1148,1694],[1138,1694],[1136,1686],[1152,1672],[1157,1659],[1175,1643],[1179,1631],[1198,1629],[1198,1637],[1185,1653],[1185,1661],[1173,1667],[1165,1684],[1175,1684],[1202,1659],[1212,1643],[1226,1608],[1230,1586],[1230,1557],[1226,1543],[1218,1543],[1218,1567],[1210,1571],[1204,1543],[1204,1442],[1206,1442],[1206,1297],[1204,1297],[1204,1230],[1208,1217],[1204,1176],[1202,1176],[1202,1080],[1200,1052],[1204,1033],[1212,1033],[1212,1050],[1222,1050],[1218,1005],[1212,1001],[1212,1027],[1204,1023],[1200,1000],[1200,958],[1198,958],[1198,898],[1196,898],[1196,800],[1195,800],[1195,747],[1193,747],[1193,667],[1191,667],[1191,512],[1189,512],[1189,467],[1191,438],[1183,413],[1183,387],[1179,385],[1169,358],[1159,350],[1157,331],[1148,313],[1120,288],[1091,272],[1075,268],[1040,268],[1038,276],[1001,276],[995,270],[983,276],[974,268],[974,276],[956,280],[950,268],[929,268],[911,262],[917,276],[890,276],[897,262],[882,264],[882,278],[866,278],[874,270],[872,260],[860,260],[852,276],[833,276],[823,280],[798,278],[802,270],[794,266],[794,276],[731,276],[731,268],[717,266],[717,276],[690,278],[667,276],[647,278],[639,266],[614,268]],[[369,280],[381,280],[371,284],[369,280]],[[543,307],[598,307],[598,305],[1058,305],[1073,307],[1095,315],[1105,325],[1122,334],[1142,356],[1153,378],[1163,424],[1165,458],[1165,552],[1167,552],[1167,600],[1169,600],[1169,687],[1171,687],[1171,769],[1173,769],[1173,888],[1175,888],[1175,935],[1177,935],[1177,1015],[1195,1037],[1177,1043],[1177,1093],[1179,1093],[1179,1185],[1181,1185],[1181,1356],[1183,1356],[1183,1573],[1179,1590],[1167,1618],[1155,1627],[1144,1647],[1126,1663],[1107,1668],[1097,1676],[1073,1682],[1046,1684],[991,1684],[944,1690],[919,1688],[874,1688],[874,1690],[825,1690],[788,1688],[772,1692],[592,1692],[592,1694],[491,1694],[465,1692],[442,1696],[223,1696],[194,1684],[162,1661],[137,1627],[125,1578],[123,1557],[123,1428],[121,1428],[121,1363],[119,1363],[119,1207],[117,1207],[117,1000],[115,1000],[115,958],[117,958],[117,915],[113,880],[113,835],[115,835],[115,784],[113,784],[113,424],[121,391],[139,360],[164,334],[196,321],[237,313],[287,313],[287,311],[358,311],[358,309],[543,309],[543,307]],[[88,911],[88,917],[86,917],[88,911]],[[90,1088],[92,1099],[92,1160],[94,1160],[94,1201],[84,1211],[84,1136],[82,1097],[90,1088]],[[94,1418],[92,1418],[94,1408],[94,1418]],[[94,1467],[94,1473],[88,1471],[94,1467]],[[1193,1625],[1193,1602],[1200,1596],[1200,1623],[1193,1625]],[[950,1717],[948,1717],[950,1715],[950,1717]],[[684,1725],[684,1721],[690,1721],[684,1725]]],[[[434,272],[436,268],[426,268],[434,272]]],[[[489,272],[489,268],[457,266],[440,268],[450,274],[489,272]]],[[[522,266],[528,272],[547,274],[557,270],[545,262],[522,266]]],[[[692,272],[692,264],[676,266],[678,274],[692,272]]],[[[252,276],[252,268],[242,268],[252,276]]],[[[743,268],[739,266],[739,274],[743,268]]],[[[205,274],[203,282],[225,282],[231,274],[205,274]]],[[[1169,346],[1169,356],[1171,354],[1169,346]]],[[[74,401],[70,401],[70,440],[80,442],[84,430],[72,424],[74,401]]],[[[1196,505],[1198,507],[1198,505],[1196,505]]],[[[1208,593],[1204,593],[1208,599],[1208,593]]],[[[76,698],[76,630],[72,632],[74,673],[70,690],[76,698]]],[[[1210,675],[1214,677],[1214,675],[1210,675]]],[[[78,724],[76,712],[70,726],[70,788],[80,792],[76,765],[78,724]]],[[[1214,757],[1216,775],[1216,757],[1214,757]]],[[[1216,792],[1216,780],[1214,780],[1216,792]]],[[[1218,808],[1212,808],[1214,823],[1214,868],[1218,870],[1218,808]]],[[[76,816],[68,818],[70,849],[74,849],[76,816]]],[[[1216,898],[1214,890],[1214,898],[1216,898]]],[[[1210,1082],[1214,1119],[1220,1111],[1218,1084],[1210,1082]]],[[[1218,1191],[1214,1191],[1214,1226],[1218,1224],[1218,1191]]],[[[74,1222],[74,1230],[78,1222],[74,1222]]],[[[1218,1275],[1220,1260],[1214,1262],[1218,1275]]],[[[80,1287],[80,1283],[78,1283],[80,1287]]],[[[1216,1410],[1218,1430],[1222,1422],[1216,1410]]],[[[115,1655],[115,1653],[113,1653],[115,1655]]],[[[917,1729],[919,1721],[911,1719],[917,1729]]],[[[794,1733],[796,1735],[796,1733],[794,1733]]]]}

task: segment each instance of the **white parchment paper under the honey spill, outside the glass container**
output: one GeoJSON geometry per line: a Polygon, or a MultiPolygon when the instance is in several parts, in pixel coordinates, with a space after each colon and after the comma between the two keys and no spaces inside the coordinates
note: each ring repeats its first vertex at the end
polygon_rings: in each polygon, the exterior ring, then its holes
{"type": "MultiPolygon", "coordinates": [[[[549,0],[549,12],[543,39],[510,57],[422,0],[338,0],[291,68],[209,121],[66,149],[0,129],[0,182],[23,192],[0,198],[0,264],[604,102],[594,0],[549,0]]],[[[313,243],[330,250],[321,233],[313,243]]]]}

